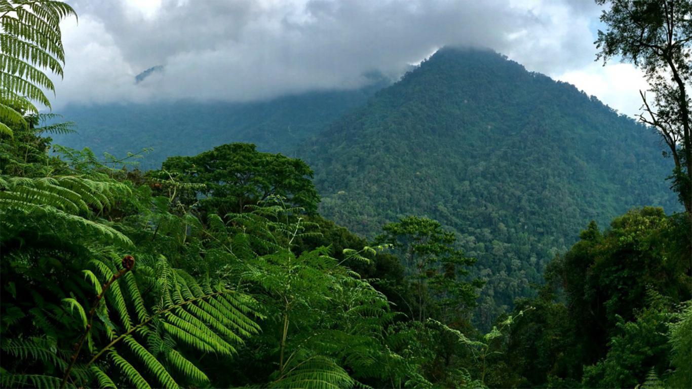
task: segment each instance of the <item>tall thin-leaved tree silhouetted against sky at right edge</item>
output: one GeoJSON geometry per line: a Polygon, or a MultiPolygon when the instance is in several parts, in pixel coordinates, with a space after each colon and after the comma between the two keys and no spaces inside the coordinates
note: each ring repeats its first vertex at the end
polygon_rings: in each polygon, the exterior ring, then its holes
{"type": "Polygon", "coordinates": [[[601,21],[608,27],[595,42],[604,63],[620,56],[642,69],[655,93],[639,91],[644,113],[639,120],[655,127],[675,161],[673,189],[692,218],[692,1],[596,0],[610,4],[601,21]]]}

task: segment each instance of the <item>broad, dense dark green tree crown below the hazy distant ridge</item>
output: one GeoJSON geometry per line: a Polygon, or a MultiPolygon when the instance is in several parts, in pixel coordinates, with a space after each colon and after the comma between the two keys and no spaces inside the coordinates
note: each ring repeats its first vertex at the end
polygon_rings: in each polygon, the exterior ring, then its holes
{"type": "MultiPolygon", "coordinates": [[[[153,177],[169,179],[170,174],[183,182],[204,184],[199,190],[199,206],[206,212],[226,215],[246,212],[247,206],[280,196],[293,206],[315,212],[320,201],[310,178],[312,170],[300,159],[281,154],[257,152],[255,145],[231,143],[197,156],[173,156],[153,177]]],[[[184,194],[180,194],[181,197],[184,194]]],[[[197,201],[197,190],[188,193],[188,201],[197,201]]]]}

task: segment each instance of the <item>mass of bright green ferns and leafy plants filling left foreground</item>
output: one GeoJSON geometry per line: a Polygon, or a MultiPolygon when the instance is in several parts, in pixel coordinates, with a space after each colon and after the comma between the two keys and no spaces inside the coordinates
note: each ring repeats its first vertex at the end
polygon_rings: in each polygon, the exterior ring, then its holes
{"type": "MultiPolygon", "coordinates": [[[[22,168],[0,181],[3,387],[344,387],[417,377],[386,345],[396,316],[388,300],[343,266],[370,263],[381,247],[343,247],[336,259],[313,246],[319,224],[290,199],[268,194],[244,201],[246,212],[202,218],[181,192],[215,181],[115,170],[89,150],[18,161],[19,139],[3,143],[4,158],[22,168]],[[228,374],[234,358],[242,374],[228,374]]],[[[289,177],[262,182],[282,188],[289,177]]],[[[296,182],[296,192],[314,193],[296,182]]],[[[226,185],[206,198],[246,189],[226,185]]]]}

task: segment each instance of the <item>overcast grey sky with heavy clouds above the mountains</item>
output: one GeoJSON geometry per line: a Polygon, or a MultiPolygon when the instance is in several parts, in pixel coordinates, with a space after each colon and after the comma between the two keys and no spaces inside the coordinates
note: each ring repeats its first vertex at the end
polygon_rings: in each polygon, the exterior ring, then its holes
{"type": "Polygon", "coordinates": [[[262,100],[360,87],[445,45],[483,46],[632,115],[641,73],[594,62],[592,0],[68,0],[69,102],[262,100]],[[134,77],[163,65],[143,82],[134,77]]]}

